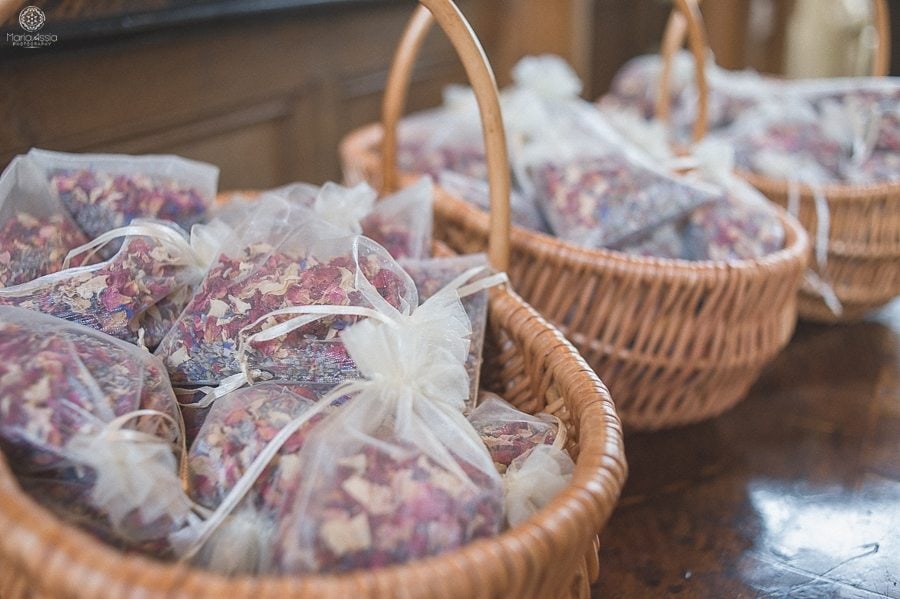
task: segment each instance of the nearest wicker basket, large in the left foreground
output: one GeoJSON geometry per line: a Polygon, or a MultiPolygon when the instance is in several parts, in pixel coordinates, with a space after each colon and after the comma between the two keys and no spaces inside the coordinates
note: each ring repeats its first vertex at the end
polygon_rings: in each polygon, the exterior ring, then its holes
{"type": "MultiPolygon", "coordinates": [[[[478,73],[473,81],[480,82],[479,102],[491,111],[486,117],[492,123],[488,143],[501,148],[494,162],[505,172],[496,87],[480,46],[449,0],[421,4],[434,12],[467,68],[478,73]]],[[[429,13],[419,7],[415,18],[422,14],[429,13]]],[[[498,204],[504,193],[508,198],[508,175],[505,187],[502,179],[493,191],[498,204]]],[[[508,214],[508,207],[500,208],[508,214]]],[[[494,218],[491,253],[499,263],[509,248],[502,237],[505,230],[502,218],[494,218]]],[[[64,524],[19,489],[0,457],[0,597],[586,599],[599,572],[597,534],[626,476],[619,419],[603,383],[518,295],[505,288],[494,290],[488,319],[484,386],[520,409],[558,416],[568,429],[567,449],[576,460],[572,482],[526,522],[402,566],[331,576],[227,578],[124,555],[64,524]]]]}

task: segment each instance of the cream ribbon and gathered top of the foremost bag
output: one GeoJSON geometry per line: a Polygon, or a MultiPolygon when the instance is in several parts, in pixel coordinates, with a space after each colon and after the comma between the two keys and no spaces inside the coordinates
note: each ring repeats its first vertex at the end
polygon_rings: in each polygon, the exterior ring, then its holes
{"type": "MultiPolygon", "coordinates": [[[[389,405],[396,407],[395,426],[400,438],[406,438],[405,429],[414,425],[413,414],[417,410],[436,410],[459,423],[462,434],[472,437],[470,441],[481,443],[474,429],[471,426],[466,428],[467,421],[462,416],[469,392],[465,359],[472,329],[460,297],[506,281],[505,273],[500,273],[466,285],[466,281],[482,271],[483,267],[478,267],[464,272],[415,310],[408,307],[397,310],[380,296],[381,301],[377,302],[376,309],[297,306],[279,310],[281,314],[299,316],[260,331],[255,335],[257,339],[274,339],[308,324],[310,319],[329,314],[366,316],[367,320],[343,331],[341,339],[360,372],[368,378],[338,385],[301,416],[282,427],[247,467],[219,507],[203,522],[195,522],[189,534],[184,531],[178,533],[176,538],[181,559],[190,559],[200,551],[237,508],[288,439],[338,399],[349,398],[341,405],[342,410],[350,409],[352,403],[363,394],[373,401],[391,402],[389,405]]],[[[374,288],[370,292],[374,292],[374,288]]],[[[447,448],[430,446],[422,450],[460,480],[469,480],[447,448]]]]}

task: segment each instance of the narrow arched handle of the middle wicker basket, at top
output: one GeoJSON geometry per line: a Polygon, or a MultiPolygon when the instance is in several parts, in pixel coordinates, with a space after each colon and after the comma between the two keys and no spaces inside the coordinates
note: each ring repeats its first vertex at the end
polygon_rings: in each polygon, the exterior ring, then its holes
{"type": "Polygon", "coordinates": [[[662,46],[662,71],[659,75],[659,86],[656,93],[656,117],[664,123],[669,122],[671,105],[669,100],[669,79],[672,76],[672,57],[684,41],[687,33],[694,57],[694,78],[700,104],[697,107],[697,118],[694,121],[692,139],[696,143],[703,139],[709,128],[709,86],[706,81],[706,28],[703,26],[703,15],[700,14],[699,0],[674,0],[674,9],[666,23],[662,46]]]}

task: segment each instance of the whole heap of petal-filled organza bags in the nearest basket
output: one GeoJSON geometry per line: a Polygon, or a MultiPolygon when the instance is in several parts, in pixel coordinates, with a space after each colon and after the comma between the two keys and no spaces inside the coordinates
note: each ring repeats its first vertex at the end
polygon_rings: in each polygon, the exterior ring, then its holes
{"type": "Polygon", "coordinates": [[[303,574],[495,535],[568,483],[560,422],[479,390],[505,278],[430,257],[429,179],[213,206],[189,166],[35,150],[0,178],[0,449],[37,501],[124,551],[303,574]]]}

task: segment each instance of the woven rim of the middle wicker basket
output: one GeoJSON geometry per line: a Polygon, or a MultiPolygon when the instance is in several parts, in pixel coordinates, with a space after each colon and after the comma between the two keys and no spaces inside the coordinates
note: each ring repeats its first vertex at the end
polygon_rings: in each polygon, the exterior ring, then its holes
{"type": "MultiPolygon", "coordinates": [[[[341,155],[345,157],[354,156],[357,163],[359,158],[363,160],[374,159],[377,162],[380,157],[377,145],[381,135],[381,123],[370,123],[354,129],[341,141],[341,155]]],[[[416,177],[417,175],[406,174],[403,179],[405,182],[409,182],[416,177]]],[[[450,211],[457,213],[459,218],[466,220],[468,224],[473,225],[480,232],[487,233],[487,212],[470,202],[447,193],[437,184],[436,188],[439,190],[439,199],[450,203],[450,211]]],[[[660,274],[659,271],[664,271],[668,277],[717,278],[721,276],[723,271],[748,271],[761,267],[787,268],[796,262],[798,257],[805,259],[809,252],[809,239],[806,230],[797,219],[789,215],[780,206],[771,204],[771,207],[785,228],[786,242],[785,246],[780,250],[760,258],[717,261],[633,256],[608,248],[584,247],[547,233],[532,231],[518,225],[511,226],[510,243],[513,248],[522,245],[532,248],[541,247],[544,251],[555,253],[564,257],[567,261],[575,261],[586,268],[596,268],[597,264],[606,262],[613,263],[621,268],[644,270],[648,274],[660,274]]]]}

